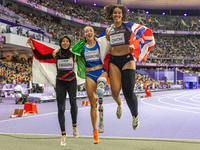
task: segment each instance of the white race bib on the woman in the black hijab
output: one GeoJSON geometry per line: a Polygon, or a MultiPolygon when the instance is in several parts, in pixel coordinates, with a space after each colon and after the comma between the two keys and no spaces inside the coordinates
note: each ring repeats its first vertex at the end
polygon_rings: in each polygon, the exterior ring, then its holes
{"type": "Polygon", "coordinates": [[[57,62],[59,70],[72,70],[73,69],[73,59],[58,59],[57,62]]]}

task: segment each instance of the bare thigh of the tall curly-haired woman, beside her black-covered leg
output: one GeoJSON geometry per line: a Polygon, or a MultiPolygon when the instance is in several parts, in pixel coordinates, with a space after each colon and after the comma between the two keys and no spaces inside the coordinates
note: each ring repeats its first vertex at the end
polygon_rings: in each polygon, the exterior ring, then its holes
{"type": "Polygon", "coordinates": [[[109,77],[111,91],[119,93],[121,89],[121,71],[112,63],[109,65],[109,77]]]}

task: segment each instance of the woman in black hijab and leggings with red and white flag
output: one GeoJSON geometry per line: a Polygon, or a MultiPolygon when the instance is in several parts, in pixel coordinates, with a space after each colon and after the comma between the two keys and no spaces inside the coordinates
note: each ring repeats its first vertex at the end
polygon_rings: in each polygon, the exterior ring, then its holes
{"type": "Polygon", "coordinates": [[[49,48],[41,43],[29,38],[27,43],[33,50],[33,79],[38,82],[39,78],[43,79],[40,83],[46,82],[47,84],[56,85],[56,99],[58,107],[58,120],[60,124],[62,139],[61,146],[66,145],[66,131],[65,131],[65,105],[66,105],[66,90],[69,94],[69,101],[71,105],[71,117],[73,136],[78,138],[77,130],[77,112],[78,107],[76,104],[76,91],[77,80],[74,72],[74,54],[69,50],[71,40],[67,36],[60,39],[60,49],[54,58],[52,52],[54,49],[49,48]],[[56,66],[56,67],[55,67],[56,66]],[[56,68],[56,69],[55,69],[56,68]],[[37,71],[39,74],[36,74],[37,71]],[[56,74],[56,77],[55,75],[56,74]],[[41,76],[40,76],[41,75],[41,76]]]}

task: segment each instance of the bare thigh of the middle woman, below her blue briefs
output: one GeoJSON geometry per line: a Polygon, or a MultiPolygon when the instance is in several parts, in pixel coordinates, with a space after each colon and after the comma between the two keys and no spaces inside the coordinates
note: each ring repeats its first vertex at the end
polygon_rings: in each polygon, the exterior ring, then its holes
{"type": "Polygon", "coordinates": [[[86,77],[86,91],[90,101],[93,101],[95,98],[97,98],[96,90],[97,90],[96,82],[91,78],[86,77]]]}

